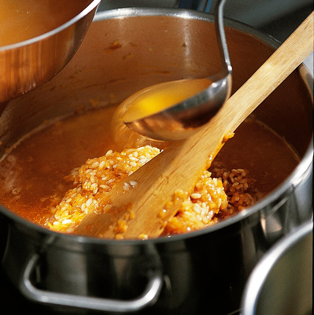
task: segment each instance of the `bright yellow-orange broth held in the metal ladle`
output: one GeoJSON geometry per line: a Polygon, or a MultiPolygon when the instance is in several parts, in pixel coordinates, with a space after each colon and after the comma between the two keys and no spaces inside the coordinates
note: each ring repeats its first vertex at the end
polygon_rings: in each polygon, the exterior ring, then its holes
{"type": "Polygon", "coordinates": [[[183,79],[163,82],[142,89],[125,100],[130,104],[123,116],[123,121],[132,122],[165,110],[198,94],[211,83],[207,78],[183,79]]]}

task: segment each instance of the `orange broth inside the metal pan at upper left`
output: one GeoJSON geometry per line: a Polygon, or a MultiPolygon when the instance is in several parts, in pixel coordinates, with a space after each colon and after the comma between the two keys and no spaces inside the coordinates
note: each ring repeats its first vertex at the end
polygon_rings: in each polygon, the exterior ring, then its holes
{"type": "Polygon", "coordinates": [[[0,47],[39,36],[71,20],[92,0],[1,0],[0,47]]]}

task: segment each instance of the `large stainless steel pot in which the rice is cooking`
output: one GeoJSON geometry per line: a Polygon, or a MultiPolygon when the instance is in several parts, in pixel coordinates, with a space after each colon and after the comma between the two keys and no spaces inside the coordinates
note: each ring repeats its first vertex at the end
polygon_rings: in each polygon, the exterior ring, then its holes
{"type": "MultiPolygon", "coordinates": [[[[96,14],[71,62],[42,87],[9,102],[0,117],[1,153],[47,120],[118,104],[154,83],[217,72],[212,21],[212,15],[179,9],[96,14]]],[[[235,21],[225,23],[235,91],[279,43],[235,21]]],[[[9,278],[27,298],[54,310],[216,315],[237,310],[259,258],[311,218],[312,86],[313,77],[301,65],[254,112],[302,158],[261,202],[204,230],[146,241],[58,234],[1,207],[9,278]]]]}

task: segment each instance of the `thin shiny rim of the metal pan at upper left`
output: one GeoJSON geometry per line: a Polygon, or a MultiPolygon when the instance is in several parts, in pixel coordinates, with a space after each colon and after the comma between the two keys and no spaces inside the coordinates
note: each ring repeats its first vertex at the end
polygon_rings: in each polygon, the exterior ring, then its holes
{"type": "Polygon", "coordinates": [[[100,3],[101,0],[93,0],[86,8],[84,8],[83,11],[81,11],[78,15],[74,16],[71,20],[67,21],[66,23],[54,28],[53,30],[46,32],[44,34],[38,35],[36,37],[32,37],[30,39],[26,39],[24,41],[14,43],[14,44],[9,44],[5,46],[0,46],[0,52],[6,51],[6,50],[11,50],[11,49],[17,49],[23,46],[27,46],[39,41],[44,40],[45,38],[51,37],[62,30],[68,28],[69,26],[75,24],[78,20],[81,20],[84,16],[90,13],[93,9],[95,9],[98,4],[100,3]]]}

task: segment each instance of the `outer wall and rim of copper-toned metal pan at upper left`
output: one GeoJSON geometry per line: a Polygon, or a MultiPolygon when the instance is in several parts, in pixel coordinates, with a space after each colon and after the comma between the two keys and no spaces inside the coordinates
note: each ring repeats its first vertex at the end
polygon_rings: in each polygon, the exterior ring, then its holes
{"type": "Polygon", "coordinates": [[[100,0],[91,0],[67,23],[29,40],[0,47],[0,111],[14,99],[54,77],[73,57],[100,0]]]}

